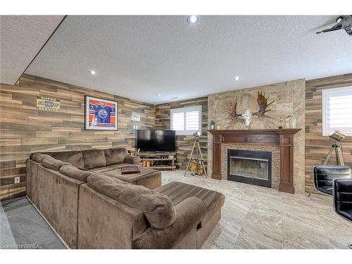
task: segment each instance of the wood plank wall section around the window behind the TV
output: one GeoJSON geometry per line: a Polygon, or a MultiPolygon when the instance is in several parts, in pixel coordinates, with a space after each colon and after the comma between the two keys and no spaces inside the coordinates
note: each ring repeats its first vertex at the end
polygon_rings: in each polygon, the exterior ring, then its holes
{"type": "MultiPolygon", "coordinates": [[[[202,136],[200,137],[199,143],[201,144],[204,163],[207,163],[208,97],[191,99],[187,101],[164,103],[156,106],[156,129],[170,129],[170,109],[187,106],[202,106],[202,136]]],[[[177,168],[186,169],[187,167],[193,141],[187,141],[186,139],[191,138],[191,136],[177,136],[176,138],[177,168]]]]}

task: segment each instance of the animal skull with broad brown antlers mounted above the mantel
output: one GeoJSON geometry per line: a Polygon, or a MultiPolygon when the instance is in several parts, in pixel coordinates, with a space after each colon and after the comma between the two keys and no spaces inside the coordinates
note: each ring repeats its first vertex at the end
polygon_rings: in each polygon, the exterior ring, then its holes
{"type": "Polygon", "coordinates": [[[268,103],[268,97],[265,97],[265,93],[263,92],[258,92],[258,106],[259,110],[256,111],[255,113],[250,113],[250,111],[247,109],[245,113],[237,113],[237,96],[234,97],[234,99],[230,99],[230,101],[227,101],[227,109],[225,111],[230,114],[230,118],[241,118],[244,120],[246,127],[248,129],[249,127],[249,122],[251,122],[251,118],[253,115],[258,116],[258,118],[270,118],[270,116],[265,115],[265,113],[268,113],[271,111],[271,109],[268,109],[268,107],[275,102],[275,100],[272,100],[270,103],[268,103]]]}

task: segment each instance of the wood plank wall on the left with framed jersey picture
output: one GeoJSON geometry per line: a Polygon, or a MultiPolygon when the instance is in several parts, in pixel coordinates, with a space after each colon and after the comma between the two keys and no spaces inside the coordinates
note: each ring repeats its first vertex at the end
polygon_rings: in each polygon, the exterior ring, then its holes
{"type": "Polygon", "coordinates": [[[35,151],[82,150],[122,146],[134,149],[133,125],[155,125],[155,107],[148,103],[85,89],[42,77],[23,75],[15,86],[0,87],[0,199],[25,195],[25,162],[35,151]],[[61,100],[58,113],[37,111],[37,96],[61,100]],[[84,95],[118,101],[118,131],[84,130],[84,95]],[[131,121],[131,112],[141,121],[131,121]],[[14,184],[14,177],[20,183],[14,184]]]}

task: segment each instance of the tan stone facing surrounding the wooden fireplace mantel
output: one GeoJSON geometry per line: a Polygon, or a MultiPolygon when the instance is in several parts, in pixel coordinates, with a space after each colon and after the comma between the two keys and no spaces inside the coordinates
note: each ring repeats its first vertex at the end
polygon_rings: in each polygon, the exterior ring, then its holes
{"type": "MultiPolygon", "coordinates": [[[[296,118],[296,128],[301,131],[294,135],[294,190],[296,194],[304,194],[305,172],[304,172],[304,153],[305,153],[305,99],[306,99],[306,80],[293,80],[289,82],[279,82],[260,87],[222,92],[219,94],[210,94],[208,96],[208,125],[214,120],[220,125],[222,130],[241,130],[245,129],[243,120],[236,118],[231,119],[226,113],[226,102],[237,97],[237,113],[243,113],[246,109],[252,112],[258,111],[256,101],[258,92],[265,92],[265,96],[270,96],[268,103],[275,100],[269,106],[271,111],[266,113],[269,118],[253,117],[249,129],[273,129],[277,128],[279,118],[287,115],[294,115],[296,118]]],[[[253,145],[244,144],[249,150],[270,151],[273,145],[253,145]]],[[[279,149],[279,146],[274,146],[279,149]]],[[[224,147],[225,149],[225,147],[224,147]]],[[[225,150],[223,150],[225,151],[225,150]]],[[[227,178],[227,153],[222,153],[222,177],[227,178]],[[226,155],[226,158],[224,158],[226,155]],[[224,171],[225,170],[225,171],[224,171]],[[225,173],[226,172],[226,173],[225,173]]],[[[272,164],[279,163],[279,160],[272,159],[272,164]]],[[[278,170],[279,171],[279,170],[278,170]]],[[[213,135],[208,133],[208,174],[213,172],[213,135]]],[[[279,173],[279,172],[278,172],[279,173]]],[[[276,177],[276,176],[275,176],[276,177]]],[[[277,182],[275,183],[277,185],[277,182]]]]}

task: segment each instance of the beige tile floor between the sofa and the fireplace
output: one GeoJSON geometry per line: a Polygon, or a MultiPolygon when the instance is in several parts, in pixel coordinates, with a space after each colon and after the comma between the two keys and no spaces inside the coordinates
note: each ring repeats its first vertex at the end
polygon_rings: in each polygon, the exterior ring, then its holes
{"type": "Polygon", "coordinates": [[[222,219],[203,249],[348,249],[352,223],[334,213],[332,198],[286,194],[227,180],[163,172],[163,184],[186,182],[225,195],[222,219]]]}

